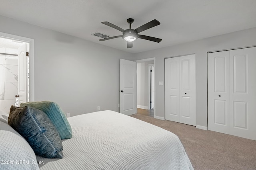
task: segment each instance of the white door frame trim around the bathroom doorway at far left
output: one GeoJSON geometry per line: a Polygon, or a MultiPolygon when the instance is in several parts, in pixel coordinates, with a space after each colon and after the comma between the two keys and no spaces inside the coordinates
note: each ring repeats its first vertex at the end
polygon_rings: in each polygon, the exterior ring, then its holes
{"type": "Polygon", "coordinates": [[[29,44],[29,100],[34,101],[34,39],[0,32],[0,37],[24,41],[29,44]]]}

